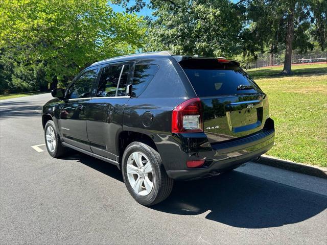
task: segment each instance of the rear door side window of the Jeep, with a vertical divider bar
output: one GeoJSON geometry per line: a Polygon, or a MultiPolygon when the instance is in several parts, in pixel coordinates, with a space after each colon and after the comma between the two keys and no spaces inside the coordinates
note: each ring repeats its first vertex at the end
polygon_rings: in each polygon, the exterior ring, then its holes
{"type": "Polygon", "coordinates": [[[126,82],[129,65],[124,65],[123,72],[122,68],[123,65],[113,65],[103,68],[99,80],[97,97],[114,97],[126,95],[126,82]],[[120,77],[121,79],[119,79],[120,77]]]}

